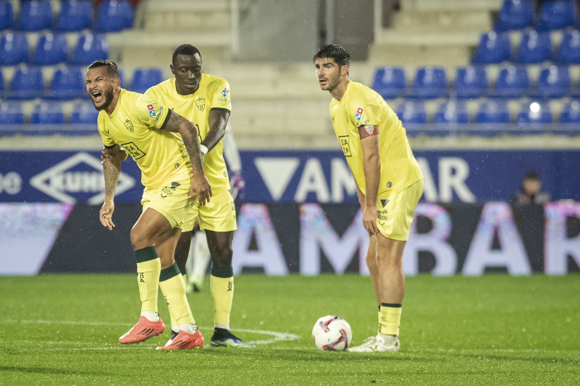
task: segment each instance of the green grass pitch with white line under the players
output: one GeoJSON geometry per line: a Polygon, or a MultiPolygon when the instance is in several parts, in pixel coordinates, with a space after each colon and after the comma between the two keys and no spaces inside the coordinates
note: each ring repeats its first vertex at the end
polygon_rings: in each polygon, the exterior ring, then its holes
{"type": "MultiPolygon", "coordinates": [[[[376,333],[357,275],[235,278],[232,328],[255,350],[156,351],[168,334],[118,344],[140,311],[133,275],[1,277],[0,294],[0,385],[580,384],[579,275],[408,278],[396,354],[314,347],[326,314],[349,321],[354,344],[376,333]]],[[[208,343],[208,285],[189,300],[208,343]]]]}

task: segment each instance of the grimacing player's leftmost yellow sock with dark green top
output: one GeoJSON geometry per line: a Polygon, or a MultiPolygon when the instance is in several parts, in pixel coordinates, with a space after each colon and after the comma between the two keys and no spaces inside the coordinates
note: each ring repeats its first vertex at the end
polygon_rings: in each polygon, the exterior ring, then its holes
{"type": "Polygon", "coordinates": [[[141,298],[141,312],[156,313],[161,261],[157,256],[155,247],[137,249],[135,259],[137,260],[137,284],[141,298]]]}

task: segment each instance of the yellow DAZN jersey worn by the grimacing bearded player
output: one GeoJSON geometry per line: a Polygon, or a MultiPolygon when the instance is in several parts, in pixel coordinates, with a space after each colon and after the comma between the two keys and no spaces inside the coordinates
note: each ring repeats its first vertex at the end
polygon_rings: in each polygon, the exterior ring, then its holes
{"type": "Polygon", "coordinates": [[[121,89],[115,110],[99,112],[97,128],[107,147],[125,148],[141,170],[141,183],[158,189],[167,182],[187,182],[193,171],[175,136],[163,130],[169,108],[148,95],[121,89]]]}

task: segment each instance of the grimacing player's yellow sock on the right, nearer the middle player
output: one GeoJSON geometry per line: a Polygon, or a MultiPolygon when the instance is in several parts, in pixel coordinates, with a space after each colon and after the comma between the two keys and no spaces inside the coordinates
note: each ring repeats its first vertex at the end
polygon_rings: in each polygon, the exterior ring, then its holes
{"type": "Polygon", "coordinates": [[[173,264],[164,270],[161,270],[159,277],[159,286],[161,293],[165,298],[169,315],[171,315],[171,324],[184,325],[195,323],[187,297],[185,296],[185,282],[179,273],[177,264],[173,264]]]}

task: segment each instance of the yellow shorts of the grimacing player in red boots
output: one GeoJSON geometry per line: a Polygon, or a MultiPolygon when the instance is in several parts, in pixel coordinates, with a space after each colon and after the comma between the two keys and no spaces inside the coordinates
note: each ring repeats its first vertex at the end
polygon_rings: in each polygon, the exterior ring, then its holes
{"type": "Polygon", "coordinates": [[[171,224],[172,228],[180,228],[187,218],[187,214],[194,207],[197,200],[187,198],[190,182],[168,182],[161,188],[143,190],[141,205],[143,212],[147,208],[160,212],[171,224]]]}

